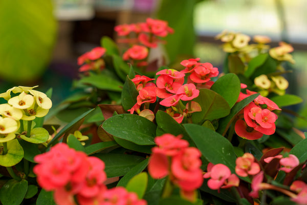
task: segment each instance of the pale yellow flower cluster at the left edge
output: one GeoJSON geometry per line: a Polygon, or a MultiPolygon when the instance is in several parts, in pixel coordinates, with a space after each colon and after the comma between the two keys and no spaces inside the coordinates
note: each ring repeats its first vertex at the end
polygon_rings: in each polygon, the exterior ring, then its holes
{"type": "Polygon", "coordinates": [[[18,86],[0,94],[0,97],[7,100],[6,104],[0,105],[0,142],[15,138],[20,120],[29,121],[47,115],[52,101],[45,93],[33,90],[36,87],[18,86]],[[11,97],[11,93],[20,94],[11,97]]]}

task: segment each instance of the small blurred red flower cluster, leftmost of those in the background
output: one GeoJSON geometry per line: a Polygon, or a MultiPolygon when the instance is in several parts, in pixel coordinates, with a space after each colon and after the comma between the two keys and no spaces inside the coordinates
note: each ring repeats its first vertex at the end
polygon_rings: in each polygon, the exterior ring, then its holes
{"type": "Polygon", "coordinates": [[[78,57],[78,65],[81,66],[79,68],[80,72],[95,70],[100,71],[104,69],[105,63],[104,60],[101,58],[104,53],[106,52],[105,48],[96,47],[93,48],[91,51],[84,53],[80,57],[78,57]]]}

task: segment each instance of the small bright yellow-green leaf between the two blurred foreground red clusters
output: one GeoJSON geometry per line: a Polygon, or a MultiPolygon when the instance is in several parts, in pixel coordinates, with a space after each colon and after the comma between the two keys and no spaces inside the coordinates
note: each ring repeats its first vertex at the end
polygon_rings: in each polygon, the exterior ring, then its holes
{"type": "Polygon", "coordinates": [[[129,180],[126,186],[128,192],[135,192],[138,197],[143,198],[148,183],[148,175],[142,172],[129,180]]]}

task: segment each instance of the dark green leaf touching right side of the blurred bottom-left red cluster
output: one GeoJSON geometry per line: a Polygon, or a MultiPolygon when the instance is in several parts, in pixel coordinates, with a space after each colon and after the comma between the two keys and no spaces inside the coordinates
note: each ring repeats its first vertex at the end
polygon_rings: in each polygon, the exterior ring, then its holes
{"type": "Polygon", "coordinates": [[[104,171],[108,178],[123,176],[144,160],[143,157],[128,154],[97,153],[93,156],[100,158],[105,163],[104,171]]]}

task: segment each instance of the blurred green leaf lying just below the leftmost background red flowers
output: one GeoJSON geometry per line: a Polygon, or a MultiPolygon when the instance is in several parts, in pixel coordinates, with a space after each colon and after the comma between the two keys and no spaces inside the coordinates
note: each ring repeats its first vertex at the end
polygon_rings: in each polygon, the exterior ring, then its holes
{"type": "Polygon", "coordinates": [[[90,76],[81,78],[79,80],[79,83],[91,85],[101,90],[110,90],[117,92],[121,92],[123,87],[123,84],[120,81],[104,73],[101,74],[90,73],[90,76]]]}

